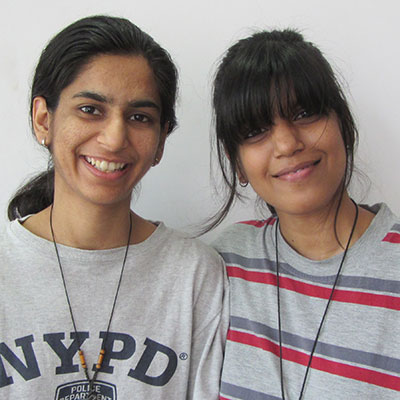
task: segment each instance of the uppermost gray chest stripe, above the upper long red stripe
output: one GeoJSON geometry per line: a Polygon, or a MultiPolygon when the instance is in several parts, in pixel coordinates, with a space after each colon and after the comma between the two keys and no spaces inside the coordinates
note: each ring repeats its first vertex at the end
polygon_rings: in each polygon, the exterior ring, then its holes
{"type": "MultiPolygon", "coordinates": [[[[275,273],[276,271],[275,262],[266,258],[247,258],[235,253],[221,253],[221,255],[227,264],[236,264],[245,269],[260,270],[263,272],[275,273]]],[[[279,266],[282,272],[284,272],[286,275],[304,279],[313,283],[332,285],[336,278],[336,275],[315,276],[306,274],[296,270],[290,264],[283,262],[280,262],[279,266]]],[[[342,275],[340,277],[338,287],[400,294],[400,282],[388,279],[342,275]]]]}

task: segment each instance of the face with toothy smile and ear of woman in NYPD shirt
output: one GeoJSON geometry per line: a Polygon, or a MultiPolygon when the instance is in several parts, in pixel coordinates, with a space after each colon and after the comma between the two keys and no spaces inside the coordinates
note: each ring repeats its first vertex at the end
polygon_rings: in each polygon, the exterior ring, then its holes
{"type": "Polygon", "coordinates": [[[133,188],[162,156],[160,114],[153,73],[140,56],[96,56],[54,112],[35,98],[35,132],[54,160],[55,201],[129,206],[133,188]]]}

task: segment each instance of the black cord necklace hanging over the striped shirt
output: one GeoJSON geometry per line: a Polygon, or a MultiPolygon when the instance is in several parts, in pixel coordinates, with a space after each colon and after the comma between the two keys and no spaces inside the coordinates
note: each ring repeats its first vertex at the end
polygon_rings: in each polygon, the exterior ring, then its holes
{"type": "MultiPolygon", "coordinates": [[[[346,248],[345,248],[345,250],[343,252],[342,261],[340,262],[340,265],[339,265],[339,268],[338,268],[338,272],[336,274],[335,282],[333,283],[333,286],[332,286],[332,289],[331,289],[331,294],[329,296],[328,302],[326,303],[325,311],[324,311],[324,314],[322,315],[322,319],[321,319],[321,322],[319,323],[317,335],[315,336],[315,339],[314,339],[314,344],[313,344],[313,347],[311,349],[310,357],[308,359],[306,373],[304,374],[303,383],[301,385],[299,400],[301,400],[303,398],[304,388],[306,386],[308,372],[310,370],[311,361],[312,361],[312,358],[314,356],[315,348],[317,347],[319,335],[321,333],[322,326],[324,325],[324,322],[325,322],[325,319],[326,319],[326,315],[328,314],[328,308],[329,308],[329,305],[331,304],[331,300],[332,300],[333,294],[335,292],[335,288],[336,288],[337,282],[339,280],[340,273],[342,271],[344,260],[346,258],[347,251],[348,251],[348,249],[350,247],[350,242],[351,242],[351,239],[352,239],[353,234],[354,234],[354,230],[355,230],[356,225],[357,225],[358,206],[354,202],[353,199],[351,199],[351,201],[353,202],[353,204],[354,204],[354,206],[356,208],[356,215],[354,217],[353,227],[351,228],[350,236],[349,236],[349,239],[347,240],[346,248]]],[[[279,293],[280,292],[280,290],[279,290],[280,289],[280,285],[279,285],[279,257],[278,257],[278,226],[279,226],[279,219],[277,219],[276,224],[275,224],[275,262],[276,262],[276,288],[277,288],[276,293],[277,293],[277,303],[278,303],[279,368],[280,368],[280,378],[281,378],[281,396],[282,396],[282,400],[285,400],[284,378],[283,378],[283,357],[282,357],[281,302],[280,302],[280,293],[279,293]]]]}

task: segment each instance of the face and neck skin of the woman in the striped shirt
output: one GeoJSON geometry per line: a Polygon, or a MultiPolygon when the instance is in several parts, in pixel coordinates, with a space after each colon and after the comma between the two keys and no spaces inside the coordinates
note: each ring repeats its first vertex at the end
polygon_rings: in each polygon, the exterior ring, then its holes
{"type": "MultiPolygon", "coordinates": [[[[321,260],[343,251],[355,216],[344,193],[335,238],[335,213],[346,152],[334,113],[316,117],[300,110],[292,120],[250,135],[239,147],[239,179],[247,180],[279,216],[286,241],[300,254],[321,260]]],[[[360,208],[354,243],[373,214],[360,208]]]]}

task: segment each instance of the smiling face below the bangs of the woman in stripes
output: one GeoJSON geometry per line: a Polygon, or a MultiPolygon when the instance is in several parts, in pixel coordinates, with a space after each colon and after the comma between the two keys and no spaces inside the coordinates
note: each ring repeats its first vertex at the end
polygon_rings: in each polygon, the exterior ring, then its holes
{"type": "Polygon", "coordinates": [[[300,111],[250,134],[239,146],[240,174],[278,213],[307,215],[336,200],[346,152],[334,113],[300,111]]]}

